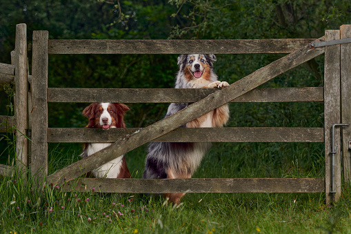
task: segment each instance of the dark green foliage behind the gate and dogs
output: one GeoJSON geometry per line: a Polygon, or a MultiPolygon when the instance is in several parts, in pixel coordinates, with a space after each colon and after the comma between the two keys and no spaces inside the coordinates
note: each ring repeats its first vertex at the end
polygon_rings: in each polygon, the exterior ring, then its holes
{"type": "MultiPolygon", "coordinates": [[[[0,9],[0,61],[6,64],[10,64],[17,23],[27,24],[29,43],[33,30],[48,30],[50,39],[318,38],[324,35],[325,29],[338,29],[342,24],[351,23],[351,3],[341,0],[2,0],[0,9]]],[[[217,55],[214,69],[220,80],[233,83],[282,56],[217,55]]],[[[172,88],[176,72],[177,55],[50,55],[48,86],[172,88]]],[[[323,86],[323,56],[285,72],[263,86],[323,86]]],[[[0,92],[0,97],[0,115],[11,115],[6,108],[8,97],[5,92],[0,92]]],[[[86,105],[49,104],[49,126],[86,126],[86,119],[81,116],[86,105]]],[[[167,106],[130,104],[127,126],[148,126],[163,117],[167,106]]],[[[230,104],[230,108],[228,126],[323,127],[323,104],[319,103],[230,104]]],[[[0,142],[1,162],[6,161],[7,153],[2,149],[6,145],[0,142]]],[[[78,144],[72,145],[61,144],[59,148],[79,150],[78,144]]],[[[253,155],[275,151],[290,154],[289,150],[295,146],[285,145],[215,144],[212,153],[252,150],[253,155]]],[[[57,149],[57,146],[52,147],[57,149]]],[[[308,152],[315,154],[316,160],[321,160],[323,147],[320,144],[299,145],[297,151],[301,158],[305,156],[301,149],[306,147],[308,152]]],[[[290,158],[280,158],[272,163],[287,161],[291,161],[290,158]]],[[[240,168],[241,164],[238,165],[240,168]]]]}

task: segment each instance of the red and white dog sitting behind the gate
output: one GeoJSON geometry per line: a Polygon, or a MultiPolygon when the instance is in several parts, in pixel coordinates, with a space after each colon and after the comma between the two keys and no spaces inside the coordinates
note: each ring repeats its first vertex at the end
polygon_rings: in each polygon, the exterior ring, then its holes
{"type": "MultiPolygon", "coordinates": [[[[128,106],[119,103],[93,103],[83,110],[83,115],[89,119],[88,128],[125,128],[124,114],[128,106]]],[[[111,143],[86,143],[81,157],[89,157],[110,146],[111,143]]],[[[89,174],[89,173],[88,173],[89,174]]],[[[90,176],[106,178],[130,178],[126,157],[121,155],[90,172],[90,176]]]]}

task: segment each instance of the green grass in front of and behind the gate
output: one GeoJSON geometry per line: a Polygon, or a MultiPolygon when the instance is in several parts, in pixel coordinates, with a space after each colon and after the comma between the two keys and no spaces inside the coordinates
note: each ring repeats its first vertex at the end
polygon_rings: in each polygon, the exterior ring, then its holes
{"type": "MultiPolygon", "coordinates": [[[[213,144],[194,177],[323,177],[321,150],[321,144],[213,144]]],[[[141,177],[144,152],[142,146],[128,153],[133,177],[141,177]]],[[[50,145],[49,173],[77,155],[79,146],[50,145]]],[[[1,178],[0,189],[3,233],[351,233],[350,186],[332,208],[324,193],[191,193],[172,206],[134,194],[40,191],[17,176],[1,178]]]]}

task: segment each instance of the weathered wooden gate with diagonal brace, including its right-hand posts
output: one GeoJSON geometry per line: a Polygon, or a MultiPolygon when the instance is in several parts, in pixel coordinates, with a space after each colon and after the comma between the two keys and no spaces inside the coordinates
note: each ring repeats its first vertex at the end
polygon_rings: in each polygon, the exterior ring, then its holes
{"type": "MultiPolygon", "coordinates": [[[[351,107],[341,119],[341,104],[349,87],[341,86],[350,74],[350,44],[310,48],[310,43],[350,37],[351,26],[326,30],[320,39],[264,40],[49,40],[48,31],[33,32],[32,46],[32,175],[65,189],[108,193],[321,193],[326,201],[341,195],[341,133],[336,128],[336,166],[332,166],[333,124],[350,123],[351,107]],[[50,54],[250,54],[288,53],[285,57],[243,77],[223,90],[210,89],[93,89],[48,88],[50,54]],[[325,53],[324,86],[305,88],[257,88],[277,75],[325,53]],[[342,97],[342,98],[341,98],[342,97]],[[146,128],[99,131],[94,128],[48,128],[48,102],[195,102],[179,113],[146,128]],[[324,128],[179,128],[228,102],[323,101],[324,128]],[[72,137],[74,135],[74,137],[72,137]],[[200,137],[201,136],[201,137],[200,137]],[[90,157],[52,175],[48,174],[48,142],[114,142],[90,157]],[[80,175],[148,142],[325,142],[325,178],[246,179],[92,179],[80,175]],[[332,177],[332,175],[335,175],[332,177]],[[335,181],[335,191],[332,190],[335,181]],[[72,186],[74,185],[74,186],[72,186]]],[[[17,50],[17,48],[16,48],[17,50]]],[[[16,66],[17,69],[17,66],[16,66]]],[[[1,70],[0,70],[1,71],[1,70]]],[[[346,82],[346,81],[345,81],[346,82]]],[[[347,81],[350,82],[350,81],[347,81]]],[[[27,83],[26,83],[27,84],[27,83]]],[[[24,96],[24,95],[23,95],[24,96]]],[[[345,104],[345,106],[350,104],[345,104]]],[[[18,116],[17,116],[18,118],[18,116]]],[[[348,129],[348,128],[345,128],[348,129]]],[[[24,132],[23,132],[24,133],[24,132]]],[[[343,141],[350,139],[343,131],[343,141]]],[[[344,175],[348,177],[350,151],[343,144],[344,175]]]]}

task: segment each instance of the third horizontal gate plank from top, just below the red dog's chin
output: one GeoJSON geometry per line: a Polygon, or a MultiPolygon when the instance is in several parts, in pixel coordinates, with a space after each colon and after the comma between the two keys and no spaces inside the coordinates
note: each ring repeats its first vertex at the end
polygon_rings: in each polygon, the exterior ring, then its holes
{"type": "MultiPolygon", "coordinates": [[[[48,128],[48,142],[116,142],[139,128],[48,128]]],[[[324,142],[323,128],[177,128],[152,142],[324,142]]]]}

